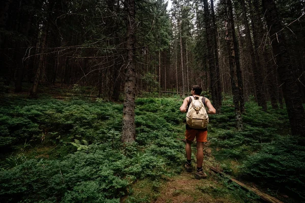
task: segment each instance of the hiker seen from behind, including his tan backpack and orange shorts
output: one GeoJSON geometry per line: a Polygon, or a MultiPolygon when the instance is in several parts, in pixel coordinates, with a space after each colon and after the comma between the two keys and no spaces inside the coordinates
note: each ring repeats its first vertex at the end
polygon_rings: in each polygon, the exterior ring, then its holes
{"type": "Polygon", "coordinates": [[[203,147],[204,143],[207,142],[207,114],[216,114],[216,110],[212,106],[210,100],[204,96],[200,96],[201,92],[202,88],[198,85],[194,85],[191,90],[191,96],[186,97],[180,107],[181,112],[187,112],[187,125],[185,133],[187,154],[187,162],[185,167],[187,172],[193,171],[191,166],[191,145],[195,138],[197,142],[197,171],[195,173],[196,179],[206,178],[206,174],[202,170],[202,162],[203,147]],[[207,111],[205,107],[207,107],[207,111]]]}

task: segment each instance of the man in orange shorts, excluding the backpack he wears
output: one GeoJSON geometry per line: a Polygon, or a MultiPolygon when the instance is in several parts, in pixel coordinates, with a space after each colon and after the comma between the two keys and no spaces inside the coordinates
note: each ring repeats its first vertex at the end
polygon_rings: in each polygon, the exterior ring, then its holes
{"type": "MultiPolygon", "coordinates": [[[[191,95],[196,97],[200,97],[202,92],[202,88],[198,85],[194,85],[191,90],[191,95]]],[[[183,101],[183,104],[180,107],[181,112],[188,112],[189,108],[190,96],[186,97],[183,101]]],[[[207,114],[216,114],[215,108],[212,106],[209,99],[205,98],[205,107],[208,108],[206,111],[207,114]]],[[[204,129],[194,129],[186,125],[186,154],[187,154],[187,162],[185,164],[187,172],[192,172],[191,166],[191,156],[192,156],[192,142],[196,137],[197,142],[197,173],[195,174],[196,179],[206,178],[206,174],[202,170],[202,162],[203,162],[203,146],[204,143],[207,142],[207,128],[204,129]]]]}

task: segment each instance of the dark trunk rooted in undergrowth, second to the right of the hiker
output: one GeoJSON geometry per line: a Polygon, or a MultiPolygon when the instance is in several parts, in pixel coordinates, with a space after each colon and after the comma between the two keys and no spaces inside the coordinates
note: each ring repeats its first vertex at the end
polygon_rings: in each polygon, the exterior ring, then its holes
{"type": "Polygon", "coordinates": [[[230,67],[230,77],[231,77],[231,86],[233,93],[233,104],[234,111],[236,116],[236,127],[238,130],[242,129],[242,119],[241,119],[241,109],[243,108],[243,101],[241,100],[242,95],[240,91],[242,89],[242,84],[240,84],[240,79],[238,78],[239,66],[239,55],[236,45],[236,36],[234,28],[234,19],[233,19],[233,9],[231,0],[227,0],[227,50],[229,55],[229,67],[230,67]],[[235,37],[234,37],[235,36],[235,37]],[[235,38],[235,39],[234,39],[235,38]],[[240,87],[241,86],[241,87],[240,87]]]}

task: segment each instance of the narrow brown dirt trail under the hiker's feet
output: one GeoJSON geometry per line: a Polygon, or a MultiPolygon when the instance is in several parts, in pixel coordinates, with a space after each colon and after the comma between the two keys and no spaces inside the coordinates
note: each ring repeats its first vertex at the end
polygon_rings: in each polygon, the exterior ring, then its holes
{"type": "MultiPolygon", "coordinates": [[[[193,149],[193,148],[192,148],[193,149]]],[[[193,150],[196,157],[196,148],[193,150]]],[[[208,146],[204,148],[203,170],[207,174],[206,179],[197,180],[194,177],[196,163],[193,161],[193,172],[186,171],[169,178],[167,183],[160,189],[160,196],[156,203],[173,202],[173,203],[227,203],[239,202],[230,194],[220,194],[222,183],[216,181],[216,174],[209,170],[209,166],[216,166],[214,157],[211,156],[211,150],[208,146]]]]}

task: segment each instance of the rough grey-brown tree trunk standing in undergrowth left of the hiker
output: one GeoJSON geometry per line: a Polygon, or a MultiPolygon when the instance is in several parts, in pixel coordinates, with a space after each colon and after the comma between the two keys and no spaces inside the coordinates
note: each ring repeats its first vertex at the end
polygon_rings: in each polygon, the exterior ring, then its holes
{"type": "Polygon", "coordinates": [[[125,0],[127,8],[127,58],[125,67],[125,99],[123,107],[123,129],[121,141],[133,142],[136,138],[135,126],[135,43],[136,43],[136,8],[135,0],[125,0]]]}

